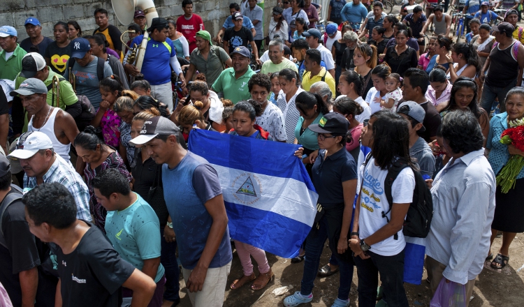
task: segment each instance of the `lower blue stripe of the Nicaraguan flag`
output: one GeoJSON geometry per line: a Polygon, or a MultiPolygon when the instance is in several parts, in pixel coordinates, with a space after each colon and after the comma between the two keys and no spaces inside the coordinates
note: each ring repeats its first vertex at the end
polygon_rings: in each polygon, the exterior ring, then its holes
{"type": "Polygon", "coordinates": [[[229,235],[280,257],[292,258],[310,233],[311,227],[270,211],[225,202],[229,235]]]}

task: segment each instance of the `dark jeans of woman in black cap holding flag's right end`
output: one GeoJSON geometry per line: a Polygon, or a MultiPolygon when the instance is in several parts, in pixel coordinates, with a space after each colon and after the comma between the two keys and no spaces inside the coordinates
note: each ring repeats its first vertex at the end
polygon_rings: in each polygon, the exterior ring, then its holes
{"type": "MultiPolygon", "coordinates": [[[[300,294],[310,295],[313,290],[313,282],[319,271],[320,256],[326,239],[328,239],[328,223],[325,217],[320,220],[319,230],[312,230],[307,235],[307,244],[305,245],[304,274],[302,277],[300,294]]],[[[337,250],[331,251],[337,254],[337,250]]],[[[338,287],[338,298],[342,300],[349,299],[349,290],[351,289],[351,278],[353,277],[353,264],[338,260],[340,267],[340,285],[338,287]]]]}

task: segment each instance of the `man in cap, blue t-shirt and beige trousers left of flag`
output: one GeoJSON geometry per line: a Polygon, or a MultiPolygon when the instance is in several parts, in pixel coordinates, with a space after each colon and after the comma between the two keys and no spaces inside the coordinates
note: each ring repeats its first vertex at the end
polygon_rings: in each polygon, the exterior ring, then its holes
{"type": "Polygon", "coordinates": [[[164,198],[191,303],[222,306],[233,259],[222,189],[217,171],[201,156],[183,149],[179,133],[169,119],[153,117],[131,142],[144,144],[147,156],[163,164],[164,198]]]}

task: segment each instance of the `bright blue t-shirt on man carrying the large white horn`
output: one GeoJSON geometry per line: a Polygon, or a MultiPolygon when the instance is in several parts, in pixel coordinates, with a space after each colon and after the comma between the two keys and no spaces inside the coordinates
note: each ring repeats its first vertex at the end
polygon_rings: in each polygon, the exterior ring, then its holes
{"type": "MultiPolygon", "coordinates": [[[[139,46],[142,40],[142,35],[137,36],[133,39],[133,42],[131,42],[131,46],[133,44],[139,46]]],[[[169,61],[172,57],[176,56],[177,50],[170,38],[166,38],[165,44],[151,38],[147,41],[144,62],[140,73],[143,73],[145,80],[149,81],[151,85],[168,83],[171,81],[171,66],[169,65],[169,61]],[[166,45],[170,46],[171,50],[169,50],[166,45]]]]}

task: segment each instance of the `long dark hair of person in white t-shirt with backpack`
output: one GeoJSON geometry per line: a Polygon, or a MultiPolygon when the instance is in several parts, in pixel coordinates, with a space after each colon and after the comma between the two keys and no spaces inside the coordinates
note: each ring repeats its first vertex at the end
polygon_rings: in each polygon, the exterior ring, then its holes
{"type": "Polygon", "coordinates": [[[371,115],[373,122],[373,144],[371,154],[381,170],[387,170],[396,158],[405,158],[412,167],[409,156],[409,128],[400,114],[381,110],[371,115]]]}

